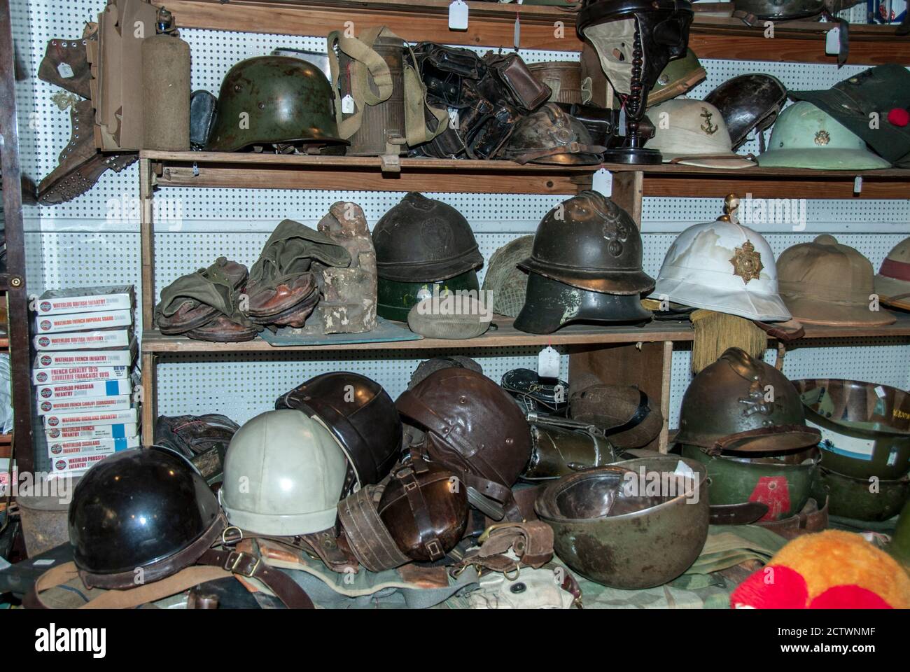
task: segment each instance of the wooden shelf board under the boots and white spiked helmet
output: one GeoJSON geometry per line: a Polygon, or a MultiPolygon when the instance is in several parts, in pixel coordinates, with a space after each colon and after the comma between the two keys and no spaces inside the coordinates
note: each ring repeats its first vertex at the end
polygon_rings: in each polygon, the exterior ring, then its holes
{"type": "MultiPolygon", "coordinates": [[[[143,353],[238,353],[261,354],[282,351],[372,351],[372,350],[460,350],[470,348],[501,348],[544,345],[618,345],[657,341],[686,342],[693,340],[692,325],[688,321],[653,321],[643,327],[570,325],[555,333],[538,335],[518,331],[511,319],[497,316],[498,329],[487,331],[475,339],[420,339],[420,341],[384,341],[369,343],[301,345],[276,348],[261,338],[242,343],[212,343],[194,341],[184,336],[163,336],[159,331],[144,331],[143,353]]],[[[883,327],[825,327],[804,325],[806,339],[864,339],[881,337],[910,337],[910,313],[897,315],[897,321],[883,327]]]]}

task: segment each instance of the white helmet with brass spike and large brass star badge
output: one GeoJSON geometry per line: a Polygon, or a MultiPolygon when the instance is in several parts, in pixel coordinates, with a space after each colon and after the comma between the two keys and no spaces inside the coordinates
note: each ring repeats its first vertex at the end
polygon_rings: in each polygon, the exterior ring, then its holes
{"type": "Polygon", "coordinates": [[[771,247],[729,214],[682,231],[663,258],[652,298],[749,320],[791,319],[777,293],[771,247]]]}

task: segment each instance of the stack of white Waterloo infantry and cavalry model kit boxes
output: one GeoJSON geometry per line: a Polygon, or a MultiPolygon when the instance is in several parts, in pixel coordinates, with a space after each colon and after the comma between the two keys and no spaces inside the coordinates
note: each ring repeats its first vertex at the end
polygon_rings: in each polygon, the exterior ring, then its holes
{"type": "Polygon", "coordinates": [[[35,301],[35,446],[46,443],[56,475],[139,445],[135,304],[132,285],[49,290],[35,301]]]}

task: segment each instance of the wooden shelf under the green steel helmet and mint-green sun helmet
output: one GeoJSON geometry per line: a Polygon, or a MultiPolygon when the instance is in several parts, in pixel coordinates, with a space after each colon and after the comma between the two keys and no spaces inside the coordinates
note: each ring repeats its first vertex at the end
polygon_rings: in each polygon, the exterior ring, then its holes
{"type": "MultiPolygon", "coordinates": [[[[145,150],[158,187],[340,189],[455,193],[575,194],[590,187],[597,166],[521,166],[512,161],[402,158],[401,172],[383,172],[379,157],[145,150]]],[[[678,164],[603,164],[643,175],[644,196],[910,199],[910,170],[809,168],[695,168],[678,164]],[[854,178],[862,177],[860,193],[854,178]]]]}

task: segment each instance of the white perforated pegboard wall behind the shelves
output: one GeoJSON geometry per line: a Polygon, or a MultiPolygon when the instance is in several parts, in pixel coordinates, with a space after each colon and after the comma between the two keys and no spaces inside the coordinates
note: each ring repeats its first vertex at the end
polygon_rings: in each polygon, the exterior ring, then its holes
{"type": "MultiPolygon", "coordinates": [[[[56,166],[56,156],[69,139],[69,110],[52,102],[57,89],[37,76],[47,40],[76,39],[85,21],[95,20],[104,0],[14,0],[17,106],[20,148],[25,175],[37,183],[56,166]]],[[[854,13],[862,7],[854,7],[854,13]]],[[[858,20],[860,15],[851,16],[858,20]]],[[[243,58],[268,54],[278,46],[322,50],[325,38],[185,30],[193,59],[192,86],[217,93],[227,69],[243,58]]],[[[478,47],[478,52],[485,48],[478,47]]],[[[577,59],[576,52],[522,50],[529,63],[577,59]]],[[[831,87],[860,66],[838,69],[829,65],[721,61],[704,59],[707,79],[691,97],[703,97],[726,79],[748,72],[777,76],[792,89],[831,87]]],[[[757,153],[757,139],[743,152],[757,153]]],[[[359,191],[290,191],[247,189],[168,188],[157,193],[157,289],[220,255],[247,265],[258,257],[268,234],[281,219],[297,219],[314,226],[336,200],[357,202],[370,226],[403,193],[359,191]],[[162,217],[163,215],[163,217],[162,217]]],[[[533,233],[547,210],[560,199],[548,196],[428,194],[459,209],[470,221],[486,260],[511,239],[533,233]]],[[[693,195],[694,197],[695,195],[693,195]]],[[[30,292],[86,284],[140,283],[138,168],[119,174],[108,171],[85,195],[55,207],[25,207],[26,269],[30,292]]],[[[659,270],[663,255],[678,231],[700,221],[715,219],[719,199],[644,199],[644,268],[659,270]]],[[[877,268],[888,250],[910,232],[910,201],[810,200],[806,228],[794,232],[789,224],[753,225],[766,234],[775,254],[820,233],[834,233],[842,242],[862,251],[877,268]]],[[[480,271],[482,279],[483,270],[480,271]]],[[[139,317],[137,315],[137,317],[139,317]]],[[[141,326],[141,325],[140,325],[141,326]]],[[[816,343],[817,344],[817,343],[816,343]]],[[[793,378],[833,376],[875,380],[907,389],[905,341],[875,341],[870,347],[844,347],[844,341],[801,347],[788,353],[784,372],[793,378]]],[[[425,357],[445,352],[423,352],[425,357]]],[[[499,380],[511,368],[536,366],[535,349],[479,349],[468,354],[485,373],[499,380]]],[[[423,359],[421,358],[421,359],[423,359]]],[[[768,361],[774,360],[769,351],[768,361]]],[[[229,355],[217,359],[173,356],[158,370],[159,410],[163,413],[224,412],[238,422],[272,407],[281,392],[321,372],[357,371],[381,382],[394,397],[402,392],[418,359],[396,351],[372,351],[339,359],[338,353],[288,354],[276,352],[259,359],[229,355]]],[[[562,376],[568,358],[562,358],[562,376]]],[[[672,366],[671,423],[688,382],[689,352],[677,351],[672,366]]]]}

